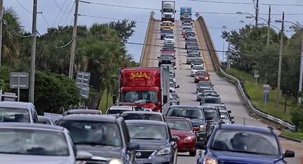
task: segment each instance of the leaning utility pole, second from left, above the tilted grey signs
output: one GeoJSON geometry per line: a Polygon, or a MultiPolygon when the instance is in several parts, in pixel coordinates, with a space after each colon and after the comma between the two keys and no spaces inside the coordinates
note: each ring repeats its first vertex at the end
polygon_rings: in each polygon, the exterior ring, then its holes
{"type": "Polygon", "coordinates": [[[73,34],[72,34],[72,50],[71,50],[71,57],[69,60],[69,78],[73,78],[74,74],[74,55],[75,55],[75,49],[76,49],[76,26],[77,26],[77,18],[78,18],[78,6],[79,6],[79,0],[76,0],[76,8],[74,13],[74,28],[73,28],[73,34]]]}

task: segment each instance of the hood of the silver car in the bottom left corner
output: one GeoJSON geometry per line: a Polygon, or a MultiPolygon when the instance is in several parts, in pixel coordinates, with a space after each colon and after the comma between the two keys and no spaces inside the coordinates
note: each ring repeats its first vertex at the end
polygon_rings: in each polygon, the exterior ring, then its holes
{"type": "Polygon", "coordinates": [[[4,154],[1,153],[1,163],[6,164],[74,164],[75,160],[72,157],[65,156],[31,156],[31,155],[20,155],[20,154],[4,154]],[[43,161],[43,162],[42,162],[43,161]]]}

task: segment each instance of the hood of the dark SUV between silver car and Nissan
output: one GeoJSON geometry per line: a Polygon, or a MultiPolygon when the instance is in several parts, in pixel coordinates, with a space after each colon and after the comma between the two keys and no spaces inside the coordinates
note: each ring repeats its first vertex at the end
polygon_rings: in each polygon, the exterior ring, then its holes
{"type": "Polygon", "coordinates": [[[109,158],[121,158],[122,147],[120,146],[102,146],[102,145],[85,145],[85,144],[76,144],[76,148],[80,151],[87,151],[92,153],[93,156],[102,156],[109,158]]]}

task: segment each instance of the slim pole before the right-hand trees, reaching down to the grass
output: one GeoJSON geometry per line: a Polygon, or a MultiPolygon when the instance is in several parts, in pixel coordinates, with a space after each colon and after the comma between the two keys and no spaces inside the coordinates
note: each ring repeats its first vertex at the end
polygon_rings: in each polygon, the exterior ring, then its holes
{"type": "Polygon", "coordinates": [[[276,89],[276,108],[278,108],[280,102],[280,86],[281,86],[281,67],[282,67],[282,50],[283,50],[283,31],[284,31],[284,12],[282,15],[282,27],[281,27],[281,39],[280,39],[280,53],[278,60],[278,83],[276,89]]]}

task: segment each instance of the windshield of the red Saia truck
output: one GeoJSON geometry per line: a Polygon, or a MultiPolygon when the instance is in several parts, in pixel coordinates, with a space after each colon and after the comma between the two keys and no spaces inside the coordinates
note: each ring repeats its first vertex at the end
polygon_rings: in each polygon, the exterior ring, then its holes
{"type": "Polygon", "coordinates": [[[157,93],[152,90],[125,91],[122,93],[122,102],[135,102],[137,100],[147,100],[147,102],[157,102],[157,93]]]}

